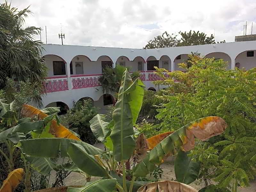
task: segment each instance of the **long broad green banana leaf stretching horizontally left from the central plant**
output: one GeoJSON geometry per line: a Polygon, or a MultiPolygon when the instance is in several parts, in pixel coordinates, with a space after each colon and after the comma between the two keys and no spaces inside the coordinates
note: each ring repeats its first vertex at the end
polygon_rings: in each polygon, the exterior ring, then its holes
{"type": "Polygon", "coordinates": [[[87,153],[92,156],[106,153],[104,150],[83,141],[65,138],[29,139],[21,140],[20,143],[24,153],[37,157],[57,157],[59,154],[61,157],[66,157],[68,156],[67,151],[70,143],[82,145],[87,153]]]}

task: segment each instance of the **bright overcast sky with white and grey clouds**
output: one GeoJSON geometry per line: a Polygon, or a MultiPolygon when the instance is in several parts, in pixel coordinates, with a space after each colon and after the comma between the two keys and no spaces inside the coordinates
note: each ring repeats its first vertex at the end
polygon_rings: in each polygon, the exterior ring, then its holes
{"type": "Polygon", "coordinates": [[[12,5],[30,5],[26,25],[46,26],[50,44],[61,44],[60,23],[64,44],[124,48],[142,48],[164,31],[190,29],[209,36],[215,30],[215,41],[233,42],[243,35],[245,21],[247,34],[252,22],[256,33],[256,0],[12,0],[12,5]]]}

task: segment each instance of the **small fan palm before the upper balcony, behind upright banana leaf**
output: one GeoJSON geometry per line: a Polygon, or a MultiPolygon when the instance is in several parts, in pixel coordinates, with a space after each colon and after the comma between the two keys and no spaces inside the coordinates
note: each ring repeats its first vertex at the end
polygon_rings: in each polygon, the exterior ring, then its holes
{"type": "MultiPolygon", "coordinates": [[[[115,68],[105,67],[102,70],[102,76],[100,76],[100,84],[102,86],[103,93],[114,93],[115,98],[113,99],[113,104],[115,105],[117,100],[117,94],[122,82],[123,73],[127,67],[116,65],[115,68]]],[[[128,71],[130,68],[127,68],[128,71]]],[[[131,74],[132,80],[140,77],[138,71],[131,74]]]]}

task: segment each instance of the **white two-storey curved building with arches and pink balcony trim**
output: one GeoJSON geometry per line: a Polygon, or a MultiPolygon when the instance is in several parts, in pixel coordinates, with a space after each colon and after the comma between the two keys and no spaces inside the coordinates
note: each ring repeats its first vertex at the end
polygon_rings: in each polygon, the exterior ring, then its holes
{"type": "Polygon", "coordinates": [[[103,94],[98,78],[102,67],[116,64],[140,71],[147,89],[157,89],[152,81],[158,77],[154,66],[169,71],[181,70],[178,63],[188,59],[188,54],[228,61],[228,68],[250,69],[256,67],[256,41],[207,44],[159,49],[125,49],[76,45],[44,44],[42,56],[49,68],[44,107],[67,105],[72,108],[76,101],[91,98],[94,105],[104,109],[111,103],[111,96],[103,94]]]}

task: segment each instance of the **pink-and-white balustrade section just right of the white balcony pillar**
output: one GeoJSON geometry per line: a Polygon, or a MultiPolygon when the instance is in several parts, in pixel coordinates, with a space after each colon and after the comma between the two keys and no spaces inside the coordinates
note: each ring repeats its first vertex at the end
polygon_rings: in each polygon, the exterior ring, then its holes
{"type": "Polygon", "coordinates": [[[100,86],[99,75],[82,75],[82,76],[71,76],[72,78],[72,89],[81,89],[87,87],[100,86]]]}

